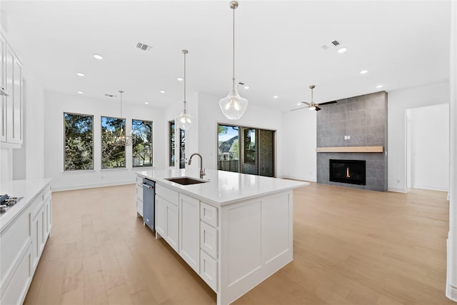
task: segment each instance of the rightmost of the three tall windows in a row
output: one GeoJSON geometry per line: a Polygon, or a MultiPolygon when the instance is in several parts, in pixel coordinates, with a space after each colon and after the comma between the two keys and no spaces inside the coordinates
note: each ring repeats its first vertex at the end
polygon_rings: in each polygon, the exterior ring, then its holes
{"type": "Polygon", "coordinates": [[[152,121],[131,120],[133,167],[152,166],[152,121]]]}

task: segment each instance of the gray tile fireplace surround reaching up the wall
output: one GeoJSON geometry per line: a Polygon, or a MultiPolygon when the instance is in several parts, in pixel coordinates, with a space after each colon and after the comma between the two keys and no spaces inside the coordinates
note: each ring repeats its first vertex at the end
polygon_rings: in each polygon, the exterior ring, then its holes
{"type": "MultiPolygon", "coordinates": [[[[317,112],[317,147],[383,146],[382,152],[318,152],[317,182],[372,191],[387,190],[387,92],[340,99],[317,112]],[[366,185],[329,181],[329,160],[365,160],[366,185]]],[[[326,147],[327,149],[319,149],[326,147]]],[[[350,151],[353,149],[349,149],[350,151]]]]}

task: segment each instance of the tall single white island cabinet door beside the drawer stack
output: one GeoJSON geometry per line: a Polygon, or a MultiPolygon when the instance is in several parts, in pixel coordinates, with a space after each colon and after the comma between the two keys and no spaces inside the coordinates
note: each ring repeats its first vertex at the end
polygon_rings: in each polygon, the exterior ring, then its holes
{"type": "Polygon", "coordinates": [[[179,194],[179,255],[199,273],[200,201],[179,194]]]}

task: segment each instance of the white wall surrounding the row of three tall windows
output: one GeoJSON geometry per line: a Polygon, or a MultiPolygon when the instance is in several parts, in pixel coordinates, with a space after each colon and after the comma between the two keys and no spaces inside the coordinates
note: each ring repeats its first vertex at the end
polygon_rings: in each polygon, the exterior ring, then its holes
{"type": "MultiPolygon", "coordinates": [[[[127,169],[101,170],[101,116],[116,116],[120,114],[120,100],[91,99],[84,96],[73,96],[45,91],[44,103],[44,174],[53,179],[53,188],[79,189],[116,184],[134,183],[134,172],[131,169],[131,146],[127,147],[127,169]],[[115,106],[114,106],[115,105],[115,106]],[[94,171],[64,172],[64,112],[94,115],[94,171]]],[[[149,106],[124,104],[123,116],[127,122],[131,119],[154,121],[154,145],[161,147],[164,143],[164,111],[149,106]]],[[[27,124],[34,124],[28,121],[27,124]]],[[[131,124],[127,124],[129,133],[131,124]]],[[[154,149],[154,164],[165,162],[163,149],[154,149]]]]}

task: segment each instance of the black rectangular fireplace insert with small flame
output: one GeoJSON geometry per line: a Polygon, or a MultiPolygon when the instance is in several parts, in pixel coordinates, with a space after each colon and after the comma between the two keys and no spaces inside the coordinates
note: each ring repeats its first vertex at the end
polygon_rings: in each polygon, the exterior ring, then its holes
{"type": "Polygon", "coordinates": [[[330,181],[366,184],[366,161],[330,159],[330,181]]]}

